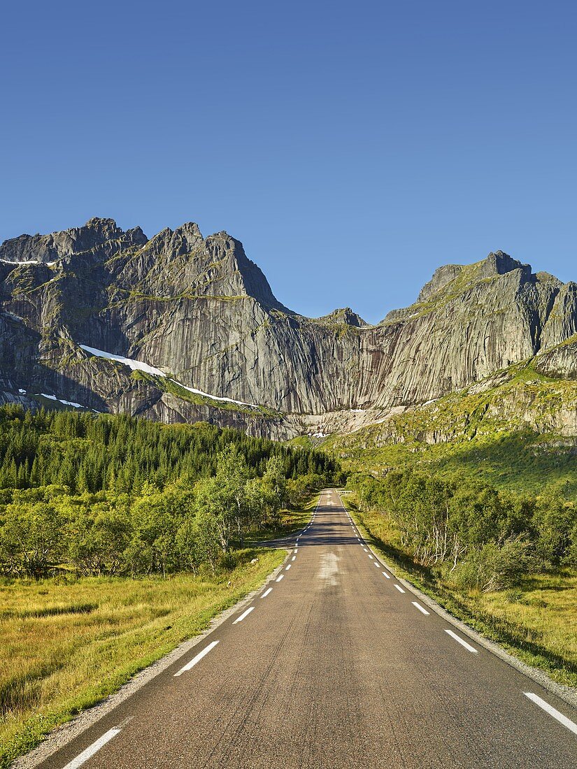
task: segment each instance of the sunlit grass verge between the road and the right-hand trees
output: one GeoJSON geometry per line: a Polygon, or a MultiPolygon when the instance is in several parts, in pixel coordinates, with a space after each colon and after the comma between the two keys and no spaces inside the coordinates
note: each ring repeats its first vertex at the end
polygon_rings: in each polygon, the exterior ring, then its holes
{"type": "Polygon", "coordinates": [[[388,515],[359,512],[354,495],[344,496],[343,502],[363,536],[394,565],[399,577],[526,664],[539,667],[560,684],[577,686],[575,569],[521,576],[515,588],[507,591],[459,591],[450,574],[433,573],[415,564],[402,550],[388,515]]]}

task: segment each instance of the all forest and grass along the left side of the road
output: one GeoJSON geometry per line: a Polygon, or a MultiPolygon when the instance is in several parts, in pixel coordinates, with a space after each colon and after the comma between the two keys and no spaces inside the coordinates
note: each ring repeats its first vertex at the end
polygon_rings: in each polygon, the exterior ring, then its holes
{"type": "Polygon", "coordinates": [[[285,553],[255,543],[339,478],[209,424],[0,408],[0,767],[262,584],[285,553]]]}

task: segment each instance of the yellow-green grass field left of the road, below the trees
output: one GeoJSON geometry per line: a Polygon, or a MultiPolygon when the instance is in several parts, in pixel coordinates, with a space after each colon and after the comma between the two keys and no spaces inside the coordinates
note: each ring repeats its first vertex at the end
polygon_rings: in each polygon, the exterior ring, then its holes
{"type": "Polygon", "coordinates": [[[238,551],[235,568],[214,578],[0,584],[0,767],[200,633],[283,558],[282,550],[238,551]]]}

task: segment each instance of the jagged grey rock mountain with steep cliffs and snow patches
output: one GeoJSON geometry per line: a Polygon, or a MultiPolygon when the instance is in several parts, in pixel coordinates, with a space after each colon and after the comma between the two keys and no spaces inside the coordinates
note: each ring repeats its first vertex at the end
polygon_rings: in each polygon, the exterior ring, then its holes
{"type": "Polygon", "coordinates": [[[577,372],[577,286],[502,251],[439,268],[375,326],[289,310],[242,243],[193,223],[21,235],[0,246],[0,281],[2,397],[28,405],[288,438],[352,431],[535,355],[577,372]]]}

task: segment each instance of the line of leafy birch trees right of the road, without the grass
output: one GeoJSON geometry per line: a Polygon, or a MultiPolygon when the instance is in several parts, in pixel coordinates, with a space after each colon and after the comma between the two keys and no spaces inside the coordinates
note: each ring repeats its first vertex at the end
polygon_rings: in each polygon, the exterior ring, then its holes
{"type": "Polygon", "coordinates": [[[413,471],[357,474],[349,485],[362,510],[389,515],[415,562],[462,588],[494,591],[521,574],[577,566],[577,509],[558,487],[519,495],[413,471]]]}

